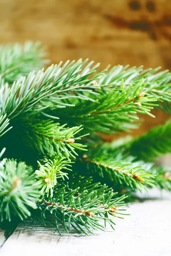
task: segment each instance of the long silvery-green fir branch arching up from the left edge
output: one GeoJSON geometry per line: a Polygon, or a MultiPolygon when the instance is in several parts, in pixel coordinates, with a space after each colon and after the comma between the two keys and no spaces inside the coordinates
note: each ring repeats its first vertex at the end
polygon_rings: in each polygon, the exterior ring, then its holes
{"type": "MultiPolygon", "coordinates": [[[[42,113],[46,108],[63,106],[64,104],[60,102],[55,102],[54,105],[50,97],[55,95],[58,100],[73,97],[72,91],[75,90],[75,87],[78,90],[88,84],[93,78],[87,80],[87,77],[94,73],[95,70],[92,68],[90,72],[82,73],[80,68],[86,63],[87,61],[82,63],[79,60],[75,64],[73,62],[69,64],[67,61],[63,67],[61,67],[61,63],[55,66],[52,65],[45,72],[40,70],[36,74],[35,72],[30,73],[27,78],[21,77],[13,83],[12,87],[2,82],[0,88],[0,110],[2,114],[6,113],[10,119],[13,119],[24,113],[33,115],[42,113]],[[43,103],[45,101],[46,104],[43,103]]],[[[87,86],[90,92],[93,93],[91,88],[96,86],[92,84],[87,86]]],[[[86,93],[86,90],[83,90],[82,93],[77,93],[76,97],[81,99],[82,95],[82,98],[86,99],[86,94],[84,95],[84,93],[86,93]]]]}

